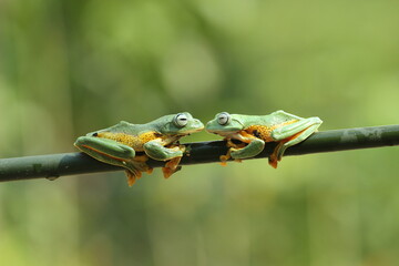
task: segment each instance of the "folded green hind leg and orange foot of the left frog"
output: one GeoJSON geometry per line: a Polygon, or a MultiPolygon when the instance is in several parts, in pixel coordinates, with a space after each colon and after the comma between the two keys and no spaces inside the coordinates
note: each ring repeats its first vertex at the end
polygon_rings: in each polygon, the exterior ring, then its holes
{"type": "Polygon", "coordinates": [[[80,136],[74,145],[82,152],[103,163],[126,168],[127,183],[130,186],[134,184],[136,178],[141,177],[141,172],[151,172],[152,170],[146,165],[145,160],[135,160],[135,151],[131,146],[113,140],[80,136]]]}

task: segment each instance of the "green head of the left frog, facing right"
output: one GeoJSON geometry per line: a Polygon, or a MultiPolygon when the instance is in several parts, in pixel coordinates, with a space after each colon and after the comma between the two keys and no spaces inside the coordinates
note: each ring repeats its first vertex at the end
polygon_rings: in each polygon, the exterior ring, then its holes
{"type": "Polygon", "coordinates": [[[165,135],[183,136],[204,129],[204,124],[187,112],[165,115],[161,120],[160,132],[165,135]]]}

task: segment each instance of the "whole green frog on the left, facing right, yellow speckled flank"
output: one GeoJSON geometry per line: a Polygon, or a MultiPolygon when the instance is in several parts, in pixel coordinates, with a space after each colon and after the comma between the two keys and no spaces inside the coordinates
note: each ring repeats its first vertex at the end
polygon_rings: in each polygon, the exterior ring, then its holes
{"type": "Polygon", "coordinates": [[[204,124],[190,113],[162,116],[146,124],[121,121],[111,127],[80,136],[74,145],[90,156],[108,164],[126,168],[127,184],[132,186],[142,172],[151,173],[149,157],[168,161],[162,168],[164,177],[180,170],[185,151],[178,139],[202,131],[204,124]]]}

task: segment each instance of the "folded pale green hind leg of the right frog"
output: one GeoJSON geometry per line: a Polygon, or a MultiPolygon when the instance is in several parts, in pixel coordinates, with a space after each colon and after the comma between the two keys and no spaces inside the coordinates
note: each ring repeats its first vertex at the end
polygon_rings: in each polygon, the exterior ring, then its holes
{"type": "Polygon", "coordinates": [[[323,121],[319,117],[309,117],[274,130],[272,137],[279,143],[269,156],[269,164],[276,168],[277,162],[282,160],[285,150],[305,141],[317,131],[321,123],[323,121]]]}

